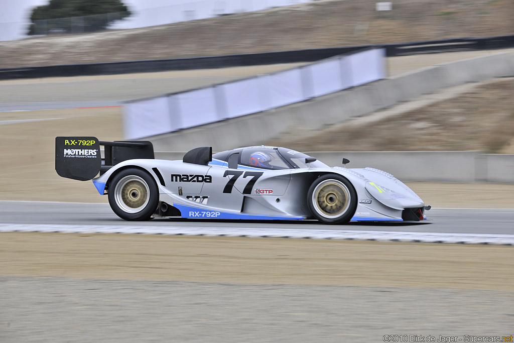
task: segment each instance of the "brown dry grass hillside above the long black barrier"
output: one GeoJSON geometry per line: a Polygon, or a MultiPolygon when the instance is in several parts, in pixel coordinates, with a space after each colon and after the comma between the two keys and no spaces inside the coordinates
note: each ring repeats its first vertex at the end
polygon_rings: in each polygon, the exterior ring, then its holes
{"type": "Polygon", "coordinates": [[[227,55],[514,32],[511,0],[316,2],[134,30],[0,42],[0,68],[227,55]]]}

